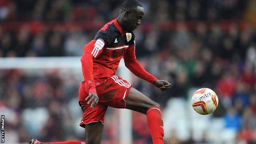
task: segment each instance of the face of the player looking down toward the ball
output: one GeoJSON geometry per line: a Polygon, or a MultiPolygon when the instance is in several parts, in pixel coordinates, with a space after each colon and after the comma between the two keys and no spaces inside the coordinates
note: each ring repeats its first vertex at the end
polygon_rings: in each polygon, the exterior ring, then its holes
{"type": "Polygon", "coordinates": [[[134,11],[131,11],[127,18],[126,28],[127,30],[135,30],[141,23],[141,19],[144,16],[143,7],[137,7],[134,11]]]}

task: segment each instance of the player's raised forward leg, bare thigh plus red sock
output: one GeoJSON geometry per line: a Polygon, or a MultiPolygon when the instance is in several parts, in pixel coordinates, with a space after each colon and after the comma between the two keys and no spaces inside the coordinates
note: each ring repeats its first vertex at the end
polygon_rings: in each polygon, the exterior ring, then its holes
{"type": "Polygon", "coordinates": [[[164,144],[164,127],[158,103],[132,87],[126,99],[125,108],[146,114],[153,144],[164,144]]]}

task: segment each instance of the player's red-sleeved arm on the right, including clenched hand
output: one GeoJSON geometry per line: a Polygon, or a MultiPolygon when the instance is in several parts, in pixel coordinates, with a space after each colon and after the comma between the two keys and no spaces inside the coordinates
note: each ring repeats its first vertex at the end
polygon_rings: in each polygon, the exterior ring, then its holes
{"type": "Polygon", "coordinates": [[[137,61],[135,57],[135,41],[133,45],[129,46],[129,48],[126,50],[126,54],[123,59],[125,66],[137,77],[152,83],[155,85],[155,87],[160,88],[162,91],[170,88],[171,84],[167,80],[158,80],[158,78],[147,72],[137,61]]]}

